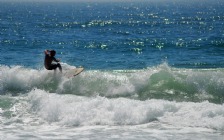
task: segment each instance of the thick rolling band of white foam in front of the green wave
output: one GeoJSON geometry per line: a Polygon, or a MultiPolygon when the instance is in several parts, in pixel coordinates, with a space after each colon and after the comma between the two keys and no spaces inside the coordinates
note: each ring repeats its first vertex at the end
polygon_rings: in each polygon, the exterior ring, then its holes
{"type": "Polygon", "coordinates": [[[38,89],[29,93],[29,100],[31,110],[43,120],[66,126],[140,125],[159,121],[176,127],[224,130],[224,105],[209,102],[87,98],[38,89]]]}

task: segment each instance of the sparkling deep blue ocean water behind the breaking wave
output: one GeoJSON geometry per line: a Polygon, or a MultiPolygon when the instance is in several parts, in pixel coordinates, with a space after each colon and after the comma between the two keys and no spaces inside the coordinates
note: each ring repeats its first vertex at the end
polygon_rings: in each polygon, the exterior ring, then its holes
{"type": "Polygon", "coordinates": [[[2,3],[1,64],[55,49],[87,69],[222,68],[223,2],[2,3]]]}

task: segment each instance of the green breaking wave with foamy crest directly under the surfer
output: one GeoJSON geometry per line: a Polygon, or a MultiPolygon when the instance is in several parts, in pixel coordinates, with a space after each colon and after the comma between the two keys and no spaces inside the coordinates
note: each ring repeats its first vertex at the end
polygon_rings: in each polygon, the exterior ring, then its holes
{"type": "MultiPolygon", "coordinates": [[[[65,64],[66,69],[72,66],[65,64]]],[[[1,66],[2,95],[19,95],[33,89],[79,96],[125,97],[136,100],[224,102],[223,69],[181,69],[167,64],[144,70],[86,70],[67,79],[52,71],[1,66]]],[[[66,70],[65,70],[66,71],[66,70]]]]}

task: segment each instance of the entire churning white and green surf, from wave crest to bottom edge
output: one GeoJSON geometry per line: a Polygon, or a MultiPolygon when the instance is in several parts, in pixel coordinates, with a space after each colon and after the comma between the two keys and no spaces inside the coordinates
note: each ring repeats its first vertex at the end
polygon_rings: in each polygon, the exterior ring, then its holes
{"type": "Polygon", "coordinates": [[[0,68],[1,139],[223,139],[222,69],[0,68]]]}

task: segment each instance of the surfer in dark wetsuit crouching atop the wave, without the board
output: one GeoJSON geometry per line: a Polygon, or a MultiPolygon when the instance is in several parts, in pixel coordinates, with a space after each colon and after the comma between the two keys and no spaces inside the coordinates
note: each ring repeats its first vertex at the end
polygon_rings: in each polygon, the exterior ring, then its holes
{"type": "Polygon", "coordinates": [[[56,54],[55,50],[45,50],[45,60],[44,60],[44,66],[47,70],[56,70],[59,68],[60,72],[62,72],[62,68],[60,63],[60,59],[56,59],[54,56],[56,54]],[[53,61],[57,62],[57,64],[52,63],[53,61]]]}

